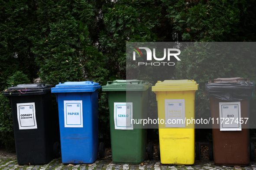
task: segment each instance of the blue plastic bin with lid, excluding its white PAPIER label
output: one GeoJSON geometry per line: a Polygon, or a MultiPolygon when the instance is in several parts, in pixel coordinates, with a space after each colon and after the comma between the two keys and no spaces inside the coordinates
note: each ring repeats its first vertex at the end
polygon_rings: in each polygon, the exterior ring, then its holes
{"type": "MultiPolygon", "coordinates": [[[[93,82],[65,82],[52,88],[58,102],[62,163],[91,164],[98,157],[98,91],[93,82]],[[82,127],[65,127],[64,101],[80,104],[82,127]],[[76,102],[78,101],[78,102],[76,102]]],[[[68,102],[67,102],[68,103],[68,102]]],[[[75,125],[76,126],[76,125],[75,125]]]]}

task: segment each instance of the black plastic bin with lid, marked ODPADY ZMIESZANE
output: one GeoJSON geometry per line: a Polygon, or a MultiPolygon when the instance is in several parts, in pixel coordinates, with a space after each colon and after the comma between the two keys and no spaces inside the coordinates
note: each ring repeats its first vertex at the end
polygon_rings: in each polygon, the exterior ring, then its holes
{"type": "MultiPolygon", "coordinates": [[[[52,117],[52,85],[24,84],[17,85],[5,91],[10,98],[13,117],[13,130],[18,164],[41,165],[53,159],[53,122],[52,117]],[[27,91],[25,91],[27,89],[27,91]],[[24,93],[24,94],[23,94],[24,93]],[[34,103],[34,105],[31,105],[34,103]],[[18,107],[29,104],[35,107],[36,129],[20,129],[18,121],[18,107]]],[[[18,108],[19,109],[19,108],[18,108]]],[[[33,108],[32,108],[33,109],[33,108]]],[[[23,124],[21,124],[23,127],[23,124]]],[[[35,127],[34,127],[35,128],[35,127]]]]}

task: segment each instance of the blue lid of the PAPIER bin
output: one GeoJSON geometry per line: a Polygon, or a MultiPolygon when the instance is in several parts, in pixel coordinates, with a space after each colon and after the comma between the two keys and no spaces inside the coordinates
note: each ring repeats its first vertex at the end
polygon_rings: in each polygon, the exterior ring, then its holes
{"type": "Polygon", "coordinates": [[[99,83],[85,81],[85,82],[65,82],[59,83],[52,88],[52,93],[73,93],[73,92],[93,92],[101,88],[99,83]]]}

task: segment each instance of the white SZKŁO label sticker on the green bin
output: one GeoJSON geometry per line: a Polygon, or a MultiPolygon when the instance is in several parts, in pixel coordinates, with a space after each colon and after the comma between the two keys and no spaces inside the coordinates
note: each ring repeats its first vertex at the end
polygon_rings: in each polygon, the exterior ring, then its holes
{"type": "Polygon", "coordinates": [[[133,129],[133,103],[114,103],[115,129],[133,129]]]}

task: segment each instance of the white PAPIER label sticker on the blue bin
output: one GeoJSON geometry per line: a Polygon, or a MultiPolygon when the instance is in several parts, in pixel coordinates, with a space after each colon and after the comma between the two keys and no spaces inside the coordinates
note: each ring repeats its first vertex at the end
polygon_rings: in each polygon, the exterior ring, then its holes
{"type": "Polygon", "coordinates": [[[64,101],[64,127],[83,127],[82,101],[64,101]]]}

